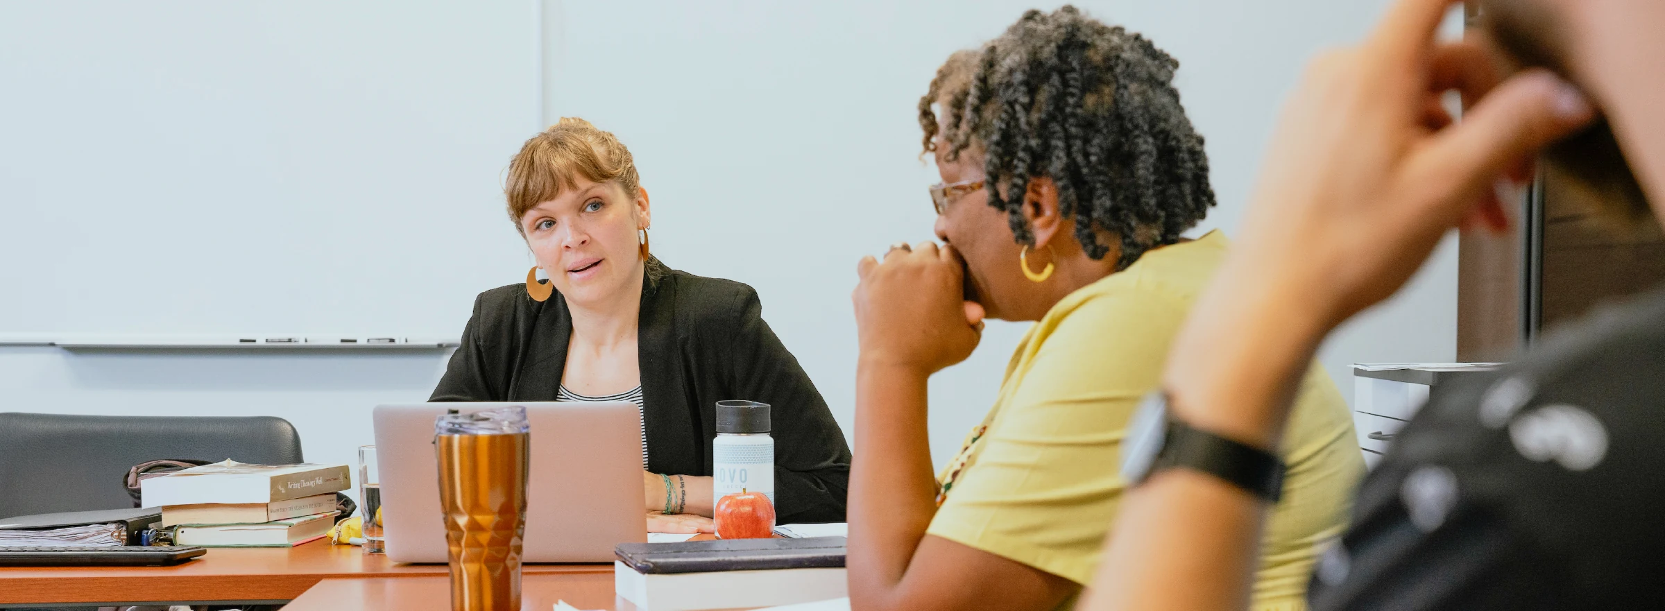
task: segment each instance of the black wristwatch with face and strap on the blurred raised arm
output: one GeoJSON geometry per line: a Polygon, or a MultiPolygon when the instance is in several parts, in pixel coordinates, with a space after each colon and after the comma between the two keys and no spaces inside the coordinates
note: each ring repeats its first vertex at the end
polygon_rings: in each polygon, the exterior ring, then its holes
{"type": "Polygon", "coordinates": [[[1277,455],[1190,428],[1169,415],[1167,393],[1152,391],[1127,426],[1122,478],[1137,486],[1169,468],[1212,474],[1270,503],[1284,491],[1284,461],[1277,455]]]}

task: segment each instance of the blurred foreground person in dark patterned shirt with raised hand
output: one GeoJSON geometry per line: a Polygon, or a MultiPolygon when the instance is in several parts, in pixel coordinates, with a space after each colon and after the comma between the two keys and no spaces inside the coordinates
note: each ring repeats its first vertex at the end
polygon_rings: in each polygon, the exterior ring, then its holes
{"type": "MultiPolygon", "coordinates": [[[[1275,448],[1322,338],[1390,296],[1454,226],[1500,226],[1537,153],[1615,226],[1665,201],[1665,2],[1402,0],[1290,100],[1240,248],[1164,378],[1174,420],[1275,448]],[[1452,122],[1439,95],[1464,92],[1452,122]]],[[[1600,270],[1590,270],[1600,273],[1600,270]]],[[[1442,386],[1360,488],[1315,609],[1632,609],[1665,601],[1665,291],[1558,330],[1492,376],[1442,386]]],[[[1267,503],[1172,468],[1127,496],[1092,609],[1242,608],[1267,503]],[[1200,581],[1212,576],[1212,581],[1200,581]],[[1199,583],[1207,586],[1199,588],[1199,583]],[[1180,586],[1182,584],[1182,586],[1180,586]]]]}

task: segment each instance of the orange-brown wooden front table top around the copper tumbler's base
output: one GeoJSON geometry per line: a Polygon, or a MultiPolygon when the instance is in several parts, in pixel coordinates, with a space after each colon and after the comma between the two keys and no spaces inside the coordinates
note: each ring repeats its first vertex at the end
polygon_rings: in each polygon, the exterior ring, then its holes
{"type": "MultiPolygon", "coordinates": [[[[613,573],[521,576],[521,609],[549,611],[554,601],[578,609],[634,611],[613,596],[613,573]]],[[[283,611],[451,611],[451,578],[323,579],[283,611]]]]}

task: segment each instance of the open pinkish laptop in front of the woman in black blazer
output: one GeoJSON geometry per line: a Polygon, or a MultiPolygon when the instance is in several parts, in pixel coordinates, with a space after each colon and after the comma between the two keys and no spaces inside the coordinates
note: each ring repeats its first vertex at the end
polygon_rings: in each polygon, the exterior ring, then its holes
{"type": "Polygon", "coordinates": [[[634,403],[378,405],[376,458],[388,559],[445,563],[433,421],[519,405],[531,423],[526,563],[608,563],[613,546],[648,541],[641,496],[641,415],[634,403]]]}

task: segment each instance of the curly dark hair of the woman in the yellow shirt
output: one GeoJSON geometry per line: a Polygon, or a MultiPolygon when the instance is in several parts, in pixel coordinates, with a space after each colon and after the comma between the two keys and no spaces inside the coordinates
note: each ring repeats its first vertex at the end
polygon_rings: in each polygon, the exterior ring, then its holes
{"type": "Polygon", "coordinates": [[[1179,62],[1146,37],[1071,5],[1029,10],[981,50],[949,57],[919,98],[924,152],[987,156],[989,205],[1034,245],[1022,216],[1031,178],[1051,176],[1061,213],[1076,220],[1087,256],[1104,258],[1096,228],[1121,241],[1117,270],[1179,241],[1214,205],[1202,137],[1174,88],[1179,62]],[[947,150],[937,150],[937,105],[947,150]],[[1006,193],[1001,193],[1001,186],[1006,193]]]}

